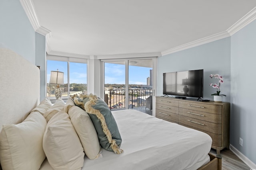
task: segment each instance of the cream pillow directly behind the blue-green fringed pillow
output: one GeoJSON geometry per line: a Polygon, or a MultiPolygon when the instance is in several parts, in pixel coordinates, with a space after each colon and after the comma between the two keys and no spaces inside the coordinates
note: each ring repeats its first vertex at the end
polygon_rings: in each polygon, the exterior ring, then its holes
{"type": "Polygon", "coordinates": [[[102,150],[98,135],[88,113],[78,106],[73,106],[68,110],[68,114],[76,129],[76,133],[82,143],[86,156],[89,159],[101,158],[102,150]]]}

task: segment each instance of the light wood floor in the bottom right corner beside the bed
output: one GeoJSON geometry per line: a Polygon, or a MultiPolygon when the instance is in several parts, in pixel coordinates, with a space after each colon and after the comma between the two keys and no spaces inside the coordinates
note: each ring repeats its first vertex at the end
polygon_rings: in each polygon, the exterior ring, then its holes
{"type": "MultiPolygon", "coordinates": [[[[210,151],[212,154],[216,154],[216,150],[210,151]]],[[[220,151],[222,156],[222,170],[250,170],[242,160],[240,160],[231,150],[223,149],[220,151]]]]}

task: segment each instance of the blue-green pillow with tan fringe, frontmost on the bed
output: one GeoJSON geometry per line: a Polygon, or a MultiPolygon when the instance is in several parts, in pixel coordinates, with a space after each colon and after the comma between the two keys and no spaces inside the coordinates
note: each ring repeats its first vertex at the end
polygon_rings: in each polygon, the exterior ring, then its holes
{"type": "Polygon", "coordinates": [[[89,113],[88,115],[92,119],[98,133],[100,145],[104,149],[116,154],[122,153],[123,150],[120,149],[122,138],[116,120],[108,108],[108,105],[93,94],[81,95],[80,98],[83,99],[84,110],[89,113]]]}

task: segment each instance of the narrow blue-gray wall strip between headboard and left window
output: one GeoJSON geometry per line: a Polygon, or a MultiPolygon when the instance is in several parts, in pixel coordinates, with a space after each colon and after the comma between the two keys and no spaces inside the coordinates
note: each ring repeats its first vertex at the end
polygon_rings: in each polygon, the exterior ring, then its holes
{"type": "Polygon", "coordinates": [[[46,97],[46,42],[45,36],[36,33],[36,63],[40,66],[40,101],[46,97]]]}

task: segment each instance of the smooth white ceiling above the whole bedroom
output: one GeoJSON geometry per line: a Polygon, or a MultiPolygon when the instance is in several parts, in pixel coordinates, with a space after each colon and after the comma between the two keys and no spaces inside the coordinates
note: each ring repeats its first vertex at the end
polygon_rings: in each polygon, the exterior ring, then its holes
{"type": "Polygon", "coordinates": [[[31,2],[51,32],[48,53],[94,56],[161,53],[225,32],[256,7],[255,0],[31,2]]]}

